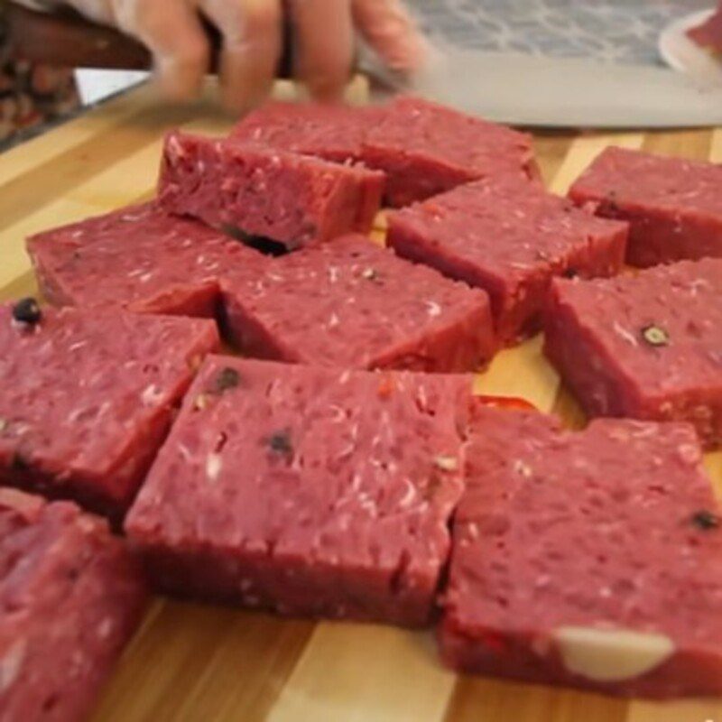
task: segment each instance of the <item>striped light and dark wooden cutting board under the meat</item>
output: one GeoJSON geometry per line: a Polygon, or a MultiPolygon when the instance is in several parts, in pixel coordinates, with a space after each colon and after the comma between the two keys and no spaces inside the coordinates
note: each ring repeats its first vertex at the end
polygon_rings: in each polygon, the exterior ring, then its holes
{"type": "MultiPolygon", "coordinates": [[[[354,97],[364,93],[357,84],[354,97]]],[[[231,124],[208,100],[171,108],[153,95],[136,89],[0,155],[0,301],[35,292],[24,236],[149,197],[168,128],[221,134],[231,124]]],[[[722,162],[722,129],[544,133],[535,142],[544,179],[559,193],[609,144],[722,162]]],[[[540,348],[535,338],[504,351],[478,376],[479,391],[523,396],[579,424],[540,348]]],[[[708,467],[722,490],[722,453],[708,467]]],[[[460,677],[440,666],[430,633],[158,598],[101,700],[101,720],[722,722],[722,700],[655,704],[460,677]]]]}

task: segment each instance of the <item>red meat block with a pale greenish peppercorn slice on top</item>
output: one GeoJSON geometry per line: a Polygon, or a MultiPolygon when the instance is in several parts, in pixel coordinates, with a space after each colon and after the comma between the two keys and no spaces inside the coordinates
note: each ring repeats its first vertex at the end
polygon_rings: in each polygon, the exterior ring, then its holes
{"type": "Polygon", "coordinates": [[[554,282],[545,352],[594,416],[690,421],[722,442],[722,259],[554,282]]]}

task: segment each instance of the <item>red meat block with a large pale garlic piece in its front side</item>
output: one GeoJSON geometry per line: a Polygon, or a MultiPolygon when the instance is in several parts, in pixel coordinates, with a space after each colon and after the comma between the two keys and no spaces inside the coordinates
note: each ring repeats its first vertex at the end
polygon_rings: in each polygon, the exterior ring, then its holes
{"type": "Polygon", "coordinates": [[[479,407],[466,454],[439,634],[449,666],[722,693],[722,522],[689,424],[569,432],[479,407]]]}

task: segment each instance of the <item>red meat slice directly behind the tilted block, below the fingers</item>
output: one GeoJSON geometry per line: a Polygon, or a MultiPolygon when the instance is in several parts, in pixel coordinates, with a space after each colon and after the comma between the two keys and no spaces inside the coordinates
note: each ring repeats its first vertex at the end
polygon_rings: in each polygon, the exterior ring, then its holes
{"type": "Polygon", "coordinates": [[[378,106],[271,102],[245,116],[230,137],[326,161],[362,162],[366,134],[383,115],[378,106]]]}

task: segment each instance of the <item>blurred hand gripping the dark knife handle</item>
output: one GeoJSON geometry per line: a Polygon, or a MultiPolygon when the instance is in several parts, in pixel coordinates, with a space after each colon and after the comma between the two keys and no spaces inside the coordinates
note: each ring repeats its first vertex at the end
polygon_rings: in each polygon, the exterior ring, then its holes
{"type": "Polygon", "coordinates": [[[346,84],[359,32],[395,71],[419,69],[424,43],[402,0],[18,0],[34,8],[71,5],[98,23],[134,35],[153,53],[169,97],[199,89],[208,39],[199,15],[223,36],[220,79],[227,106],[263,99],[282,54],[283,14],[294,32],[299,79],[311,95],[333,98],[346,84]]]}

